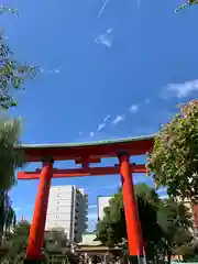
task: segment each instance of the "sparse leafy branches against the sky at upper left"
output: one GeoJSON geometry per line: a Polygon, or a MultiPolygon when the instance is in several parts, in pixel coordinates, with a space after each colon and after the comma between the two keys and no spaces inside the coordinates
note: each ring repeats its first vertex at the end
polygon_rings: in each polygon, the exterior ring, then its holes
{"type": "MultiPolygon", "coordinates": [[[[15,13],[16,10],[0,6],[0,13],[2,12],[15,13]]],[[[6,43],[4,32],[0,28],[0,107],[9,109],[16,106],[18,102],[12,97],[12,90],[24,89],[24,80],[34,78],[37,70],[37,66],[29,66],[14,58],[6,43]]]]}

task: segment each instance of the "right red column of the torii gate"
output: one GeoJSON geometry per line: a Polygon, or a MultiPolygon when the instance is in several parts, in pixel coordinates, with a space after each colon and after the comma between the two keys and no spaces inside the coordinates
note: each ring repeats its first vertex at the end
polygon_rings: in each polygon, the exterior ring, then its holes
{"type": "Polygon", "coordinates": [[[143,240],[141,223],[139,220],[136,198],[134,194],[134,186],[130,169],[130,157],[128,154],[122,153],[119,155],[119,161],[123,187],[123,204],[125,211],[129,251],[132,262],[139,263],[140,257],[143,256],[143,240]]]}

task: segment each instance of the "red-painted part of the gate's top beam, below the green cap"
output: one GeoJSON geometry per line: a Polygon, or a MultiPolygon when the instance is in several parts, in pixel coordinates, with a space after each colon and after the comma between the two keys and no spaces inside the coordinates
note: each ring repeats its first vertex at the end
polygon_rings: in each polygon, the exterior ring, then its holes
{"type": "Polygon", "coordinates": [[[86,156],[89,158],[117,157],[118,153],[123,150],[129,155],[143,155],[151,151],[152,147],[153,139],[101,145],[22,148],[25,153],[26,162],[41,162],[45,156],[51,156],[54,161],[78,160],[86,156]]]}

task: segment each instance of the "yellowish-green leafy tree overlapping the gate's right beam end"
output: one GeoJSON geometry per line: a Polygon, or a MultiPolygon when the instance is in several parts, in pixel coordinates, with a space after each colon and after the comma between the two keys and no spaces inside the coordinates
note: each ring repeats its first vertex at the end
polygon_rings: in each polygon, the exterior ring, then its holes
{"type": "Polygon", "coordinates": [[[154,141],[147,164],[156,186],[172,197],[198,200],[198,100],[180,107],[154,141]]]}

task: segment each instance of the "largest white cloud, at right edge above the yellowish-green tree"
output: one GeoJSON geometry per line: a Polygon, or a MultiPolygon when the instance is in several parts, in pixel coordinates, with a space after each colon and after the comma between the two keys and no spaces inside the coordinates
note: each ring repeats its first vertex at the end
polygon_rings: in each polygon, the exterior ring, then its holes
{"type": "Polygon", "coordinates": [[[195,91],[198,91],[198,79],[188,80],[184,84],[169,84],[163,89],[162,97],[165,99],[170,97],[185,98],[195,91]]]}

